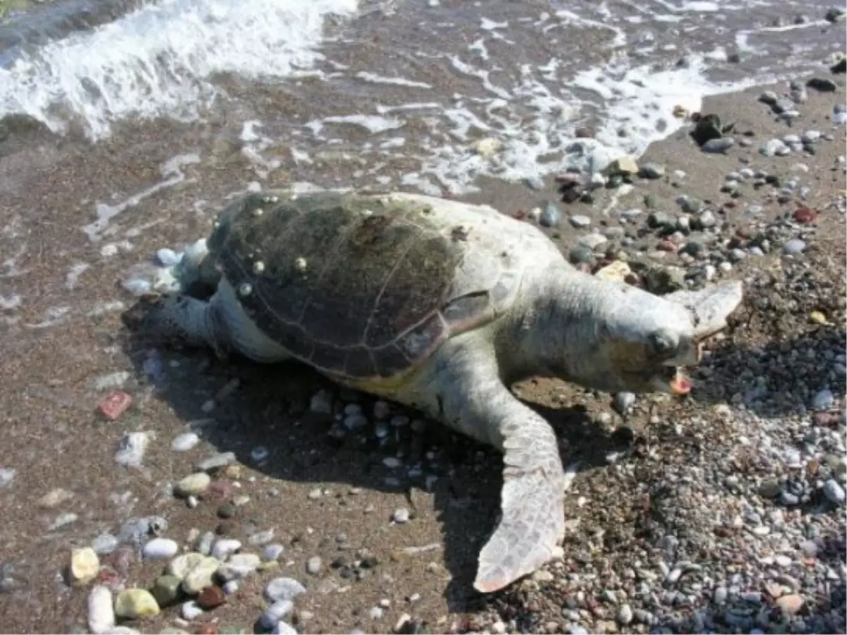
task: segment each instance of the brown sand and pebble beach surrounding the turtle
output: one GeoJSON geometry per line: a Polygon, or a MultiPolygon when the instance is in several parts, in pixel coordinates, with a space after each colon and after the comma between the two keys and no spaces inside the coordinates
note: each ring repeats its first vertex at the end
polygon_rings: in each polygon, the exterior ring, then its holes
{"type": "MultiPolygon", "coordinates": [[[[362,72],[384,57],[385,41],[404,37],[380,34],[379,22],[359,28],[373,40],[356,58],[330,50],[362,72]]],[[[419,36],[414,19],[407,28],[419,36]]],[[[837,40],[837,28],[844,23],[822,27],[821,41],[837,40]]],[[[586,47],[601,31],[586,30],[586,47]]],[[[464,46],[471,35],[451,37],[464,46]]],[[[533,40],[524,54],[560,44],[533,40]]],[[[431,75],[440,95],[470,81],[445,80],[443,60],[397,63],[431,75]]],[[[745,63],[722,72],[743,77],[745,63]]],[[[304,590],[278,617],[306,635],[845,632],[847,84],[829,68],[837,63],[798,73],[794,89],[780,80],[707,97],[700,113],[717,114],[722,139],[733,140],[720,152],[697,146],[689,118],[633,157],[639,174],[613,174],[596,189],[585,173],[566,179],[576,192],[561,191],[563,174],[483,174],[473,179],[479,192],[440,192],[529,223],[552,203],[559,218],[544,230],[572,262],[591,271],[626,262],[657,293],[745,282],[744,305],[711,340],[684,399],[548,379],[515,387],[556,427],[573,467],[568,533],[562,560],[486,596],[471,583],[497,521],[494,450],[304,367],[152,348],[121,319],[134,301],[122,285],[128,271],[206,235],[246,189],[372,185],[378,174],[418,191],[421,181],[403,180],[424,174],[417,154],[374,165],[376,155],[359,153],[370,144],[360,126],[344,143],[316,141],[308,160],[273,163],[300,156],[292,122],[302,127],[318,109],[348,113],[349,101],[308,77],[272,87],[228,77],[230,94],[248,98],[191,124],[114,124],[97,143],[73,126],[58,136],[32,119],[3,119],[3,632],[91,632],[92,588],[164,598],[173,557],[141,555],[159,538],[180,554],[224,560],[234,549],[260,563],[225,595],[216,584],[220,597],[203,599],[223,600],[214,608],[174,592],[155,615],[119,617],[104,632],[271,632],[262,616],[291,591],[274,586],[280,578],[304,590]],[[812,77],[817,88],[805,87],[812,77]],[[793,103],[788,116],[774,97],[793,103]],[[270,123],[251,137],[252,118],[270,123]],[[285,130],[289,141],[279,141],[285,130]],[[131,403],[110,419],[100,408],[115,391],[131,403]],[[189,500],[174,494],[198,472],[211,485],[189,500]],[[69,583],[69,566],[84,559],[74,550],[86,548],[99,552],[92,575],[69,583]]],[[[379,98],[413,88],[391,85],[379,98]]],[[[595,123],[585,118],[579,138],[601,134],[595,123]]],[[[418,152],[433,126],[421,116],[402,130],[418,152]]],[[[496,130],[469,135],[489,140],[494,159],[505,152],[496,130]]]]}

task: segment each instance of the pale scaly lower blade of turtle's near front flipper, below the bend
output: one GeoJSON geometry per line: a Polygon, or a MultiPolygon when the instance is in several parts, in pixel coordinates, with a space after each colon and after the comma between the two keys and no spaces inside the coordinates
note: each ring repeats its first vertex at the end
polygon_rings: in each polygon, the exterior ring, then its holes
{"type": "MultiPolygon", "coordinates": [[[[512,398],[513,399],[513,398],[512,398]]],[[[479,553],[473,587],[490,593],[555,557],[564,534],[565,474],[550,425],[517,400],[501,423],[500,524],[479,553]]]]}

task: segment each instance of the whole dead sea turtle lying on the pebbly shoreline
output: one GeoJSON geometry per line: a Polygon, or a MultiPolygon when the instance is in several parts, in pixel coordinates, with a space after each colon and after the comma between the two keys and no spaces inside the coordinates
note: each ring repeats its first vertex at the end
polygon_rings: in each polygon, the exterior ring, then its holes
{"type": "Polygon", "coordinates": [[[551,560],[565,527],[556,437],[512,382],[688,392],[678,367],[699,362],[700,341],[742,297],[740,283],[652,295],[578,271],[540,229],[493,207],[356,191],[241,196],[182,276],[204,279],[211,298],[148,297],[136,329],[219,355],[299,360],[503,452],[481,592],[551,560]]]}

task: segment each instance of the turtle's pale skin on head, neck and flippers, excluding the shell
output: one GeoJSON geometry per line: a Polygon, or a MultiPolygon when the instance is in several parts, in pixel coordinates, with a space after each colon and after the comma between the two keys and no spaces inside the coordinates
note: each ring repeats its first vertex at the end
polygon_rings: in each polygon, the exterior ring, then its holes
{"type": "MultiPolygon", "coordinates": [[[[610,392],[668,392],[674,367],[695,363],[698,340],[722,328],[741,300],[739,284],[662,298],[579,273],[551,254],[543,254],[547,266],[524,270],[507,315],[452,337],[396,381],[342,379],[503,452],[501,522],[480,552],[474,582],[482,592],[504,588],[550,560],[564,530],[556,436],[512,395],[512,382],[547,375],[610,392]],[[695,312],[701,314],[696,327],[695,312]]],[[[225,280],[208,302],[158,301],[145,329],[219,354],[235,349],[257,362],[288,357],[241,311],[225,280]]]]}

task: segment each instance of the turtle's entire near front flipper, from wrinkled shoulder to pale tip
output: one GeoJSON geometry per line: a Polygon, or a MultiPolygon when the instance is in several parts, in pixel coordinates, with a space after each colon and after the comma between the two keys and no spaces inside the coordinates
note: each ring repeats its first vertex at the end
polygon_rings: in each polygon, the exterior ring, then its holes
{"type": "Polygon", "coordinates": [[[435,356],[433,417],[503,452],[501,520],[479,553],[474,588],[490,593],[535,572],[556,556],[565,531],[565,471],[556,433],[503,384],[490,349],[457,338],[435,356]],[[458,340],[458,341],[457,341],[458,340]]]}

